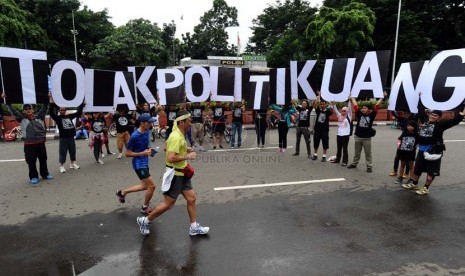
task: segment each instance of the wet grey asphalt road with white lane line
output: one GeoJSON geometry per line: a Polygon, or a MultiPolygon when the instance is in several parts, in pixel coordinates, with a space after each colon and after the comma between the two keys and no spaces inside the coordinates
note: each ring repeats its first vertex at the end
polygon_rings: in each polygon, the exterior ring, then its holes
{"type": "MultiPolygon", "coordinates": [[[[335,133],[332,127],[328,156],[335,133]]],[[[211,227],[206,237],[188,235],[181,198],[154,220],[150,236],[140,235],[143,194],[125,204],[114,195],[138,181],[129,158],[113,155],[99,165],[78,140],[81,169],[60,174],[58,140],[50,140],[55,179],[31,186],[25,162],[14,161],[24,158],[22,143],[0,143],[0,274],[463,275],[464,134],[464,126],[446,132],[454,141],[446,142],[441,177],[418,196],[388,176],[399,135],[388,126],[373,138],[371,174],[363,157],[353,170],[311,161],[303,141],[300,156],[291,156],[293,148],[278,154],[276,130],[267,132],[265,149],[251,149],[248,130],[243,149],[209,151],[193,163],[198,221],[211,227]],[[295,183],[326,179],[333,181],[295,183]],[[262,186],[239,189],[246,185],[262,186]]],[[[288,137],[295,147],[294,129],[288,137]]],[[[110,144],[114,150],[116,140],[110,144]]],[[[162,168],[161,154],[151,159],[157,183],[162,168]]],[[[161,199],[157,187],[152,203],[161,199]]]]}

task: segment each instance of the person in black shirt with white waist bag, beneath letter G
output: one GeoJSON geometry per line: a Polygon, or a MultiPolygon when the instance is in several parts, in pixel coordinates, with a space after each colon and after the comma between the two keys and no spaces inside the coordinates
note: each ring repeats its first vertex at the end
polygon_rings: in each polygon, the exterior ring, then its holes
{"type": "Polygon", "coordinates": [[[405,189],[415,189],[419,195],[429,194],[429,187],[433,184],[436,176],[440,175],[441,159],[444,145],[444,131],[458,125],[464,118],[465,108],[460,113],[455,113],[453,119],[441,120],[442,111],[433,110],[429,114],[429,120],[420,126],[418,132],[418,154],[415,159],[415,169],[412,183],[403,184],[405,189]],[[423,187],[418,187],[418,180],[423,172],[426,172],[426,181],[423,187]]]}

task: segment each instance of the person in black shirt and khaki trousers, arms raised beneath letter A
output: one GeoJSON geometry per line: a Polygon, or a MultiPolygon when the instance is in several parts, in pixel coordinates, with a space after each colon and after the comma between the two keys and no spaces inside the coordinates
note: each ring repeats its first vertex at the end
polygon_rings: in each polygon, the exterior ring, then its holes
{"type": "MultiPolygon", "coordinates": [[[[386,95],[386,92],[384,92],[386,95]]],[[[367,172],[373,171],[373,159],[371,155],[371,138],[375,136],[376,131],[373,129],[373,122],[376,114],[378,113],[378,106],[383,101],[380,98],[375,106],[372,108],[368,103],[364,104],[361,110],[354,98],[351,98],[352,105],[354,106],[355,117],[357,118],[357,126],[355,127],[355,151],[352,164],[347,166],[348,169],[356,168],[360,161],[362,148],[365,151],[365,159],[367,162],[367,172]]]]}

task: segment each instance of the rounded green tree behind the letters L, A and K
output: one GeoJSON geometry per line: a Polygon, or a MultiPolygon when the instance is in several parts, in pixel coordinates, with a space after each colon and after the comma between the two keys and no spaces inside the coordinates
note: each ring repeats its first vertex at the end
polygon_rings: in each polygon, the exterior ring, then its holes
{"type": "Polygon", "coordinates": [[[163,42],[160,27],[141,18],[116,28],[97,44],[90,56],[94,65],[103,69],[125,70],[127,66],[148,65],[165,67],[169,63],[169,49],[163,42]]]}

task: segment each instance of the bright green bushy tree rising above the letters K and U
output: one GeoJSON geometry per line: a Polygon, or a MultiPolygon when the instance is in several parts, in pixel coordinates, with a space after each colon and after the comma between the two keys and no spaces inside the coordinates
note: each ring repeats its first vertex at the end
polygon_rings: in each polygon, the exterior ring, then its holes
{"type": "Polygon", "coordinates": [[[351,57],[373,46],[376,18],[365,4],[351,2],[339,9],[321,7],[307,26],[307,37],[320,58],[351,57]]]}

